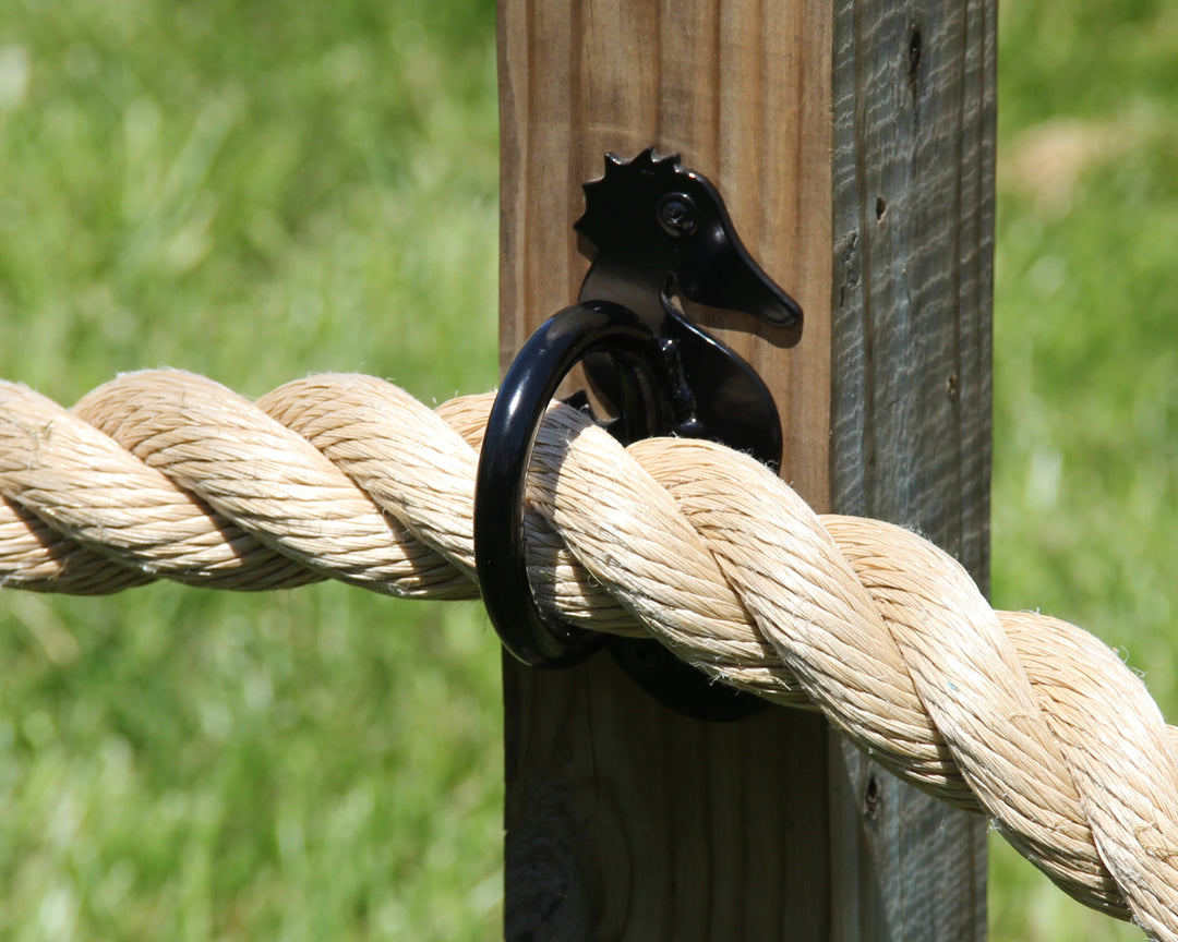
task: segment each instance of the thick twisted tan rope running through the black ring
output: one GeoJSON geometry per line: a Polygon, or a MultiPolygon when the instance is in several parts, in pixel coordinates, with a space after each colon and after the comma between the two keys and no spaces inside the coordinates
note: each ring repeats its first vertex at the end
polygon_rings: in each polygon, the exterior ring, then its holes
{"type": "MultiPolygon", "coordinates": [[[[364,376],[250,403],[155,371],[67,411],[0,383],[0,584],[331,577],[476,597],[490,403],[434,411],[364,376]]],[[[990,816],[1077,900],[1178,941],[1178,731],[1091,635],[992,610],[927,540],[816,516],[752,458],[684,439],[623,449],[563,406],[537,437],[525,524],[542,608],[821,709],[904,781],[990,816]]]]}

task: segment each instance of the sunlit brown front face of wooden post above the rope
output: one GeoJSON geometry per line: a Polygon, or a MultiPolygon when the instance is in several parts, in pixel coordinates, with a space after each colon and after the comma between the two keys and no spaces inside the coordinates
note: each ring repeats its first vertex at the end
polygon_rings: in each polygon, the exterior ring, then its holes
{"type": "Polygon", "coordinates": [[[693,309],[782,410],[789,478],[828,503],[830,8],[820,0],[503,0],[501,359],[571,303],[581,184],[655,145],[716,184],[754,258],[807,312],[806,350],[693,309]],[[805,183],[803,183],[805,181],[805,183]]]}

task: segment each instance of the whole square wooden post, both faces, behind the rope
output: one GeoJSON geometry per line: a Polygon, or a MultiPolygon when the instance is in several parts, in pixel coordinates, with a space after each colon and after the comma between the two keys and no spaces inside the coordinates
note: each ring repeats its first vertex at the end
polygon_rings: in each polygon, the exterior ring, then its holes
{"type": "MultiPolygon", "coordinates": [[[[503,363],[576,297],[605,152],[681,153],[806,311],[789,350],[709,324],[773,387],[786,478],[985,588],[994,6],[501,0],[503,363]]],[[[504,685],[508,938],[984,937],[985,823],[820,717],[688,719],[608,656],[504,685]]]]}

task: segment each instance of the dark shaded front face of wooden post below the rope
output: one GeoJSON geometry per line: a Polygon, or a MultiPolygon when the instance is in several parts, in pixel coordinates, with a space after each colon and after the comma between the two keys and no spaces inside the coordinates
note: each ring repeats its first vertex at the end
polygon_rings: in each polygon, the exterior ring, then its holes
{"type": "Polygon", "coordinates": [[[829,937],[826,723],[702,723],[608,656],[510,665],[509,940],[829,937]]]}

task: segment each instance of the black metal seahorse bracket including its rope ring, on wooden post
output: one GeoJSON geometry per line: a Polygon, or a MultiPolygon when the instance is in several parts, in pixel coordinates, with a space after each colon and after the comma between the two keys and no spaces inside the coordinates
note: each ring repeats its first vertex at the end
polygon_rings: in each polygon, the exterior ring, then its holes
{"type": "MultiPolygon", "coordinates": [[[[710,682],[653,641],[607,639],[542,612],[524,557],[524,479],[536,430],[577,363],[602,424],[623,444],[650,436],[707,438],[767,464],[781,460],[781,418],[765,383],[676,303],[735,311],[801,336],[802,312],[753,260],[719,191],[677,155],[648,148],[605,157],[583,186],[574,224],[593,260],[577,303],[549,318],[504,377],[487,425],[475,498],[483,599],[503,644],[525,664],[569,666],[603,644],[663,703],[697,718],[739,718],[761,701],[710,682]]],[[[588,407],[587,397],[574,398],[588,407]]]]}

